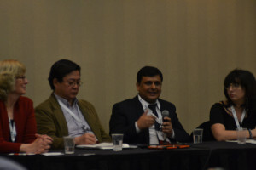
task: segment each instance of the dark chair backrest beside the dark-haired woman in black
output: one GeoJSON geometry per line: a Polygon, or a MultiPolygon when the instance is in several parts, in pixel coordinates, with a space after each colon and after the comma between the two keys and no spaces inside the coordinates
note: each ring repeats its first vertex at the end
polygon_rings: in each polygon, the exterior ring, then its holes
{"type": "MultiPolygon", "coordinates": [[[[202,128],[203,130],[203,139],[202,141],[214,141],[216,140],[213,135],[212,135],[212,130],[211,130],[211,124],[210,121],[203,122],[199,127],[196,128],[202,128]]],[[[190,139],[193,141],[193,132],[190,134],[190,139]]]]}

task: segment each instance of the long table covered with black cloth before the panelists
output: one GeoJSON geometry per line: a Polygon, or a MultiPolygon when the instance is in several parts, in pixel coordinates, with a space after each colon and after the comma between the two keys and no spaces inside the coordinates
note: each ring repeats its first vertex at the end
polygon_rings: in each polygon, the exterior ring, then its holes
{"type": "MultiPolygon", "coordinates": [[[[52,150],[63,152],[63,150],[52,150]]],[[[204,142],[187,149],[149,150],[145,148],[113,150],[76,149],[73,155],[7,156],[28,169],[256,169],[256,144],[204,142]],[[92,154],[92,155],[90,155],[92,154]]]]}

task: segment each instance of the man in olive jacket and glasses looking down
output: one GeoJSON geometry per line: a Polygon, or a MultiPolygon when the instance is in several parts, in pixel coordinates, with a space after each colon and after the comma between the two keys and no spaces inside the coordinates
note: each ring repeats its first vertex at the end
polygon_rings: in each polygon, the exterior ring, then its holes
{"type": "Polygon", "coordinates": [[[35,109],[38,133],[52,137],[54,149],[63,148],[64,136],[72,136],[75,144],[111,141],[93,105],[76,98],[82,84],[80,70],[67,59],[55,62],[48,78],[53,93],[35,109]]]}

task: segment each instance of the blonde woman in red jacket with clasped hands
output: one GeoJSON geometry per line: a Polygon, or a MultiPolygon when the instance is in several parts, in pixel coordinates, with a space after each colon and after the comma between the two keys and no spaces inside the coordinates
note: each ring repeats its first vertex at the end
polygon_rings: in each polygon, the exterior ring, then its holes
{"type": "Polygon", "coordinates": [[[14,59],[0,61],[0,153],[40,154],[49,150],[52,139],[36,134],[31,99],[26,94],[26,67],[14,59]]]}

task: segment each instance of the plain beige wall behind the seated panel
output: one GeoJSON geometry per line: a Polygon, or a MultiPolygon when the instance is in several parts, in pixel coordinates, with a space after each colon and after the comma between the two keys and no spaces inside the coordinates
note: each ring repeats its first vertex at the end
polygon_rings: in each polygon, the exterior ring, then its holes
{"type": "Polygon", "coordinates": [[[58,59],[82,67],[79,98],[96,106],[108,131],[112,105],[137,94],[137,71],[164,74],[162,99],[183,127],[207,121],[234,68],[256,75],[255,0],[0,0],[0,57],[27,67],[38,105],[58,59]]]}

